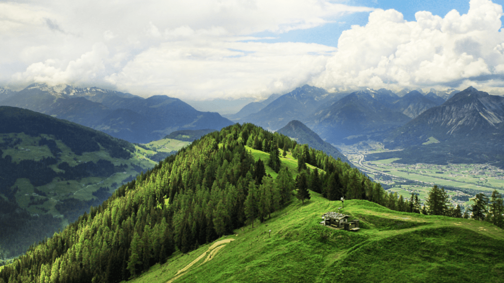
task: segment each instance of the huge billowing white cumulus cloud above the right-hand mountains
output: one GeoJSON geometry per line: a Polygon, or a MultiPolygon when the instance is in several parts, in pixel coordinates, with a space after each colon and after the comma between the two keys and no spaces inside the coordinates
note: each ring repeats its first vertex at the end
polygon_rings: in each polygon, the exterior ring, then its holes
{"type": "Polygon", "coordinates": [[[502,7],[471,0],[469,12],[444,18],[430,12],[407,22],[395,10],[376,10],[365,26],[352,26],[314,85],[325,88],[504,86],[502,7]]]}

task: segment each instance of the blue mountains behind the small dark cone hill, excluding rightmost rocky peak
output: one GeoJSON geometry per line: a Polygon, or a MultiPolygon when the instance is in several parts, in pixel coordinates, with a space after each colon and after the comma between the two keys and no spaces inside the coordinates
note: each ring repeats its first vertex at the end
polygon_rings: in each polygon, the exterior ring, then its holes
{"type": "Polygon", "coordinates": [[[288,121],[298,120],[330,144],[354,144],[369,138],[383,139],[390,129],[445,102],[440,95],[454,93],[455,90],[440,92],[434,89],[427,94],[407,89],[400,95],[387,89],[329,93],[305,85],[278,97],[256,113],[239,115],[256,109],[256,104],[249,104],[236,116],[228,117],[269,130],[278,130],[288,121]]]}

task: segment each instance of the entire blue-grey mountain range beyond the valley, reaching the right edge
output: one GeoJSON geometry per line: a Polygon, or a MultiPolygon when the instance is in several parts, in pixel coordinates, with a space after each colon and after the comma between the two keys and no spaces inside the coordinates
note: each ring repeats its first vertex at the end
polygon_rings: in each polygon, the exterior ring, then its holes
{"type": "Polygon", "coordinates": [[[303,86],[240,121],[279,130],[298,120],[332,145],[374,140],[388,149],[403,149],[370,158],[504,166],[502,99],[472,87],[462,92],[366,89],[348,94],[303,86]]]}

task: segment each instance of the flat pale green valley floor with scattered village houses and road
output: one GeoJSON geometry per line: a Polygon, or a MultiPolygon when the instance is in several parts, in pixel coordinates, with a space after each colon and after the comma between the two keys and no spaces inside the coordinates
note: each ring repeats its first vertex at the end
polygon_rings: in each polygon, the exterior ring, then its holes
{"type": "Polygon", "coordinates": [[[402,164],[397,163],[399,159],[396,158],[366,161],[366,155],[386,150],[379,147],[338,148],[359,170],[382,183],[387,191],[397,192],[403,198],[417,194],[425,203],[428,192],[437,185],[445,188],[453,206],[459,204],[468,208],[477,193],[490,196],[494,189],[504,193],[504,170],[492,164],[402,164]]]}

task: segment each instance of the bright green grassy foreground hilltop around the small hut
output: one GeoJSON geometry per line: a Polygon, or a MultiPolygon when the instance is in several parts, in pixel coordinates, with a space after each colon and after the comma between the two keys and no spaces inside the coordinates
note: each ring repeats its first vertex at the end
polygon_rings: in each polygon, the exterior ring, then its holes
{"type": "MultiPolygon", "coordinates": [[[[343,212],[361,221],[361,230],[352,233],[319,225],[321,215],[337,210],[341,202],[311,195],[304,205],[294,200],[254,229],[249,225],[236,230],[227,236],[235,240],[212,260],[197,262],[174,282],[499,282],[502,278],[504,233],[491,224],[399,213],[366,200],[348,200],[343,212]],[[410,225],[397,225],[401,222],[410,225]]],[[[174,254],[167,263],[129,282],[167,282],[210,245],[188,255],[174,254]]]]}

